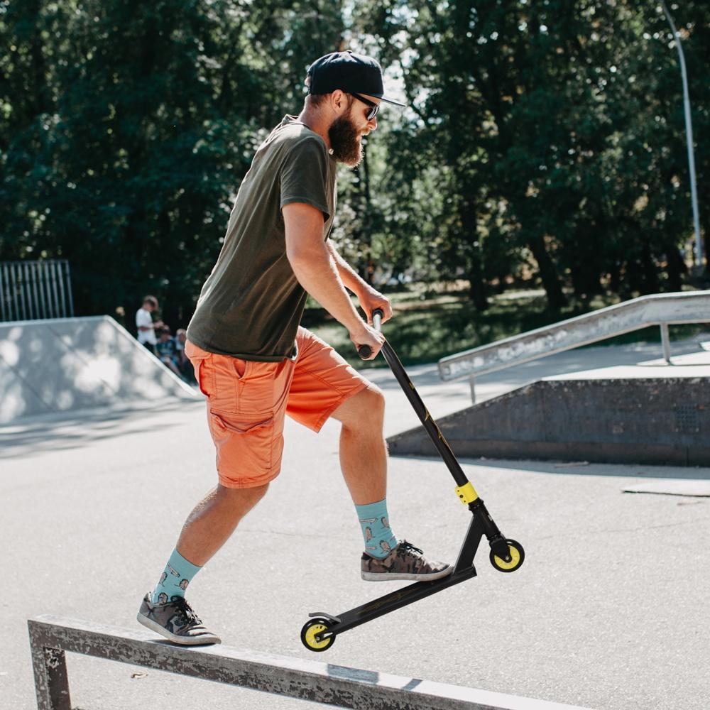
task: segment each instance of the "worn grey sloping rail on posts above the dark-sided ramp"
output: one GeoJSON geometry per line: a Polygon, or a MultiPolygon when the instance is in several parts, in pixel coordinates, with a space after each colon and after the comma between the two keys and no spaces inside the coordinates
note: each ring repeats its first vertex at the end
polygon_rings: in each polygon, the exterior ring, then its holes
{"type": "Polygon", "coordinates": [[[475,403],[477,376],[653,325],[660,327],[663,358],[670,365],[668,326],[704,322],[710,322],[710,290],[641,296],[449,355],[439,360],[439,376],[444,381],[469,377],[475,403]]]}

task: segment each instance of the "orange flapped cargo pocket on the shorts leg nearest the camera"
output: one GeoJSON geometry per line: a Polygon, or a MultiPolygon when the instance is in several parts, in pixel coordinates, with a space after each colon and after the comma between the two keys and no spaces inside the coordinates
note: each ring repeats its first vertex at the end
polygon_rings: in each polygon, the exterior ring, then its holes
{"type": "Polygon", "coordinates": [[[235,421],[225,413],[210,412],[209,428],[217,448],[217,470],[231,479],[255,479],[271,472],[274,420],[235,421]]]}

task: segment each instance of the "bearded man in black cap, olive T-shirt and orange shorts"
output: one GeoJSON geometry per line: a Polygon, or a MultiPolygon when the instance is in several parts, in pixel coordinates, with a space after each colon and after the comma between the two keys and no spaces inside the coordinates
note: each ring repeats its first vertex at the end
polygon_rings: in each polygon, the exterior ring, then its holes
{"type": "MultiPolygon", "coordinates": [[[[382,393],[330,346],[299,327],[307,293],[375,357],[384,342],[371,313],[392,315],[329,241],[337,163],[357,165],[361,138],[377,127],[381,68],[340,52],[308,70],[300,115],[286,116],[256,151],[239,188],[217,264],[187,328],[185,351],[207,398],[219,484],[182,528],[138,621],[174,643],[219,643],[185,601],[185,588],[280,471],[283,419],[319,431],[342,422],[340,461],[365,543],[361,576],[371,581],[439,579],[449,564],[430,562],[397,540],[386,504],[387,452],[382,393]],[[359,317],[346,288],[359,299],[359,317]]],[[[402,104],[398,104],[402,105],[402,104]]],[[[155,576],[158,578],[158,575],[155,576]]]]}

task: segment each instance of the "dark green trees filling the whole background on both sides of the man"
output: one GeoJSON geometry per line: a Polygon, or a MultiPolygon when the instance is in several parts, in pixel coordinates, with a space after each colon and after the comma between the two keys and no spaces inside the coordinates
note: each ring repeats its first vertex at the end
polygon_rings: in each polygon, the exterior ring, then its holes
{"type": "MultiPolygon", "coordinates": [[[[670,9],[702,195],[710,9],[670,9]]],[[[476,312],[541,285],[555,312],[687,277],[682,89],[654,2],[0,0],[0,38],[0,261],[68,258],[79,312],[155,293],[186,324],[256,147],[346,45],[410,102],[341,175],[334,240],[373,283],[464,280],[476,312]]]]}

